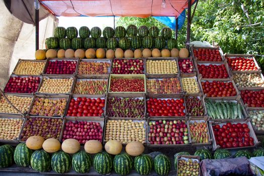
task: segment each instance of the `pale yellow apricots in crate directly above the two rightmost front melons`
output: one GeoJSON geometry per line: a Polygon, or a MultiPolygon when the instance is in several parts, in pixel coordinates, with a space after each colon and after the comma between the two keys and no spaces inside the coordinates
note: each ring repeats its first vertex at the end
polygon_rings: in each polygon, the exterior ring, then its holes
{"type": "Polygon", "coordinates": [[[106,124],[105,141],[109,140],[118,140],[123,144],[132,141],[144,143],[146,140],[145,122],[108,120],[106,124]]]}

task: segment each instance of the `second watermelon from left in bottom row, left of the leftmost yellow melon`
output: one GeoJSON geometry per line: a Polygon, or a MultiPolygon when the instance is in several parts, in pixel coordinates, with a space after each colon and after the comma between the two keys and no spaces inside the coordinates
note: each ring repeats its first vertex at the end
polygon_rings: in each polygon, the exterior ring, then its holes
{"type": "Polygon", "coordinates": [[[14,160],[17,165],[27,167],[30,165],[30,158],[33,150],[29,149],[26,143],[20,143],[15,148],[14,160]]]}

